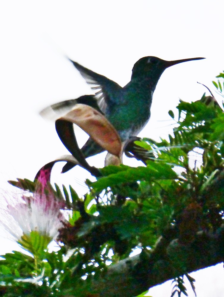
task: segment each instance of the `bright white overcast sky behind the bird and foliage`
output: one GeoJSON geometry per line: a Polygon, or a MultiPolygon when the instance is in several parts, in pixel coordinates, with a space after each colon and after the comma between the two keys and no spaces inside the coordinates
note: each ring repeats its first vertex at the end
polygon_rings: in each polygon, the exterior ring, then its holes
{"type": "MultiPolygon", "coordinates": [[[[168,68],[160,78],[151,119],[140,136],[165,137],[172,124],[168,110],[175,110],[179,98],[200,99],[206,89],[197,81],[214,91],[212,80],[224,69],[223,3],[1,1],[0,187],[12,190],[8,179],[32,180],[42,165],[68,153],[54,123],[38,114],[52,103],[92,93],[65,55],[121,86],[129,82],[133,64],[143,56],[206,57],[168,68]]],[[[78,138],[85,142],[80,132],[78,138]]],[[[103,159],[99,155],[89,160],[103,166],[103,159]]],[[[53,182],[70,183],[80,195],[85,193],[83,181],[89,178],[85,170],[60,174],[62,163],[55,167],[53,182]]],[[[0,254],[10,248],[1,244],[0,254]]],[[[221,264],[192,276],[198,297],[223,296],[221,264]]],[[[171,282],[152,288],[149,294],[170,296],[171,282]]],[[[190,289],[188,294],[194,296],[190,289]]]]}

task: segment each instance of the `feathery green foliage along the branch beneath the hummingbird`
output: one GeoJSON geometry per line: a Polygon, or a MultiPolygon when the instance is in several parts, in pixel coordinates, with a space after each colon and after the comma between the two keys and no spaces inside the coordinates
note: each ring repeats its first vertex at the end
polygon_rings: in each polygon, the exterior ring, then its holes
{"type": "MultiPolygon", "coordinates": [[[[59,250],[44,251],[38,258],[19,252],[4,255],[4,296],[33,296],[34,287],[35,296],[42,296],[42,290],[43,296],[88,296],[91,280],[108,265],[133,251],[150,251],[161,236],[187,246],[202,230],[216,232],[224,211],[224,113],[210,102],[205,96],[192,103],[180,101],[172,135],[135,141],[148,152],[146,167],[102,168],[95,182],[86,181],[89,192],[83,198],[72,187],[48,188],[65,199],[65,210],[70,211],[59,230],[59,250]],[[18,281],[34,276],[36,283],[18,281]]],[[[174,118],[173,111],[169,114],[174,118]]],[[[37,187],[37,181],[10,182],[31,192],[37,187]]],[[[175,253],[172,265],[177,271],[172,296],[186,295],[179,276],[184,263],[175,253]]],[[[194,290],[193,279],[188,280],[194,290]]]]}

